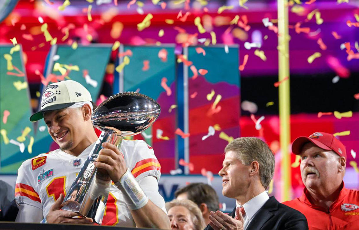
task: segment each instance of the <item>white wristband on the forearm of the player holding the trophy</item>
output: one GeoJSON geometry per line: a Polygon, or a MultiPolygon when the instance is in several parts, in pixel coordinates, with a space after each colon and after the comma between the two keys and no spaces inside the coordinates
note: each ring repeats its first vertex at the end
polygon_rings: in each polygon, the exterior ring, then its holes
{"type": "Polygon", "coordinates": [[[127,207],[130,210],[137,210],[148,202],[146,193],[142,190],[135,177],[127,168],[127,171],[115,185],[123,193],[127,207]]]}

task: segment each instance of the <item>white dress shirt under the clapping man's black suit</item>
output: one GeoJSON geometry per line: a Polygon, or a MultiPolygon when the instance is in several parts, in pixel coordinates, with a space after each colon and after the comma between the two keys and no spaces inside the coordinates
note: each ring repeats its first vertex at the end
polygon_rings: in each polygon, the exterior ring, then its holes
{"type": "MultiPolygon", "coordinates": [[[[253,197],[251,200],[247,201],[243,205],[244,211],[246,215],[243,216],[244,225],[243,229],[246,230],[250,222],[252,221],[253,217],[256,215],[258,210],[269,200],[269,196],[266,191],[263,191],[259,195],[253,197]]],[[[242,207],[239,203],[236,202],[236,208],[242,207]]]]}

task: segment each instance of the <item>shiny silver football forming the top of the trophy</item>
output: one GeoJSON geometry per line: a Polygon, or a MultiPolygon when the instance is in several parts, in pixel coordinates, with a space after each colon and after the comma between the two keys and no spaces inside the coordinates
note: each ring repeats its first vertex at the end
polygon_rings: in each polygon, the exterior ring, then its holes
{"type": "Polygon", "coordinates": [[[157,101],[137,92],[122,92],[104,100],[93,112],[98,129],[119,136],[133,136],[149,128],[158,118],[157,101]]]}

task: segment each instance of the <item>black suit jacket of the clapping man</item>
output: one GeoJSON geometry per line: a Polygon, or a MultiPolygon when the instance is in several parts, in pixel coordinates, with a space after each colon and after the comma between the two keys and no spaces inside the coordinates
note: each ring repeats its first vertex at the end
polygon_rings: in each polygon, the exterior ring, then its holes
{"type": "MultiPolygon", "coordinates": [[[[236,208],[228,214],[234,218],[236,208]]],[[[247,230],[267,230],[267,229],[308,229],[308,222],[306,217],[299,211],[292,209],[282,203],[279,203],[274,196],[269,197],[269,200],[258,210],[256,215],[248,225],[247,230]]],[[[205,230],[213,230],[208,225],[205,230]]]]}

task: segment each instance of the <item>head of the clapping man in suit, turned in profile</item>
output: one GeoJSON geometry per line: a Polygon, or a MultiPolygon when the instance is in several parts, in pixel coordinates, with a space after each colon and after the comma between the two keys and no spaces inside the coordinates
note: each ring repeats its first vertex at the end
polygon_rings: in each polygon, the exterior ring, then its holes
{"type": "Polygon", "coordinates": [[[222,193],[239,204],[265,191],[274,174],[274,154],[262,140],[254,137],[234,139],[224,149],[222,193]]]}

